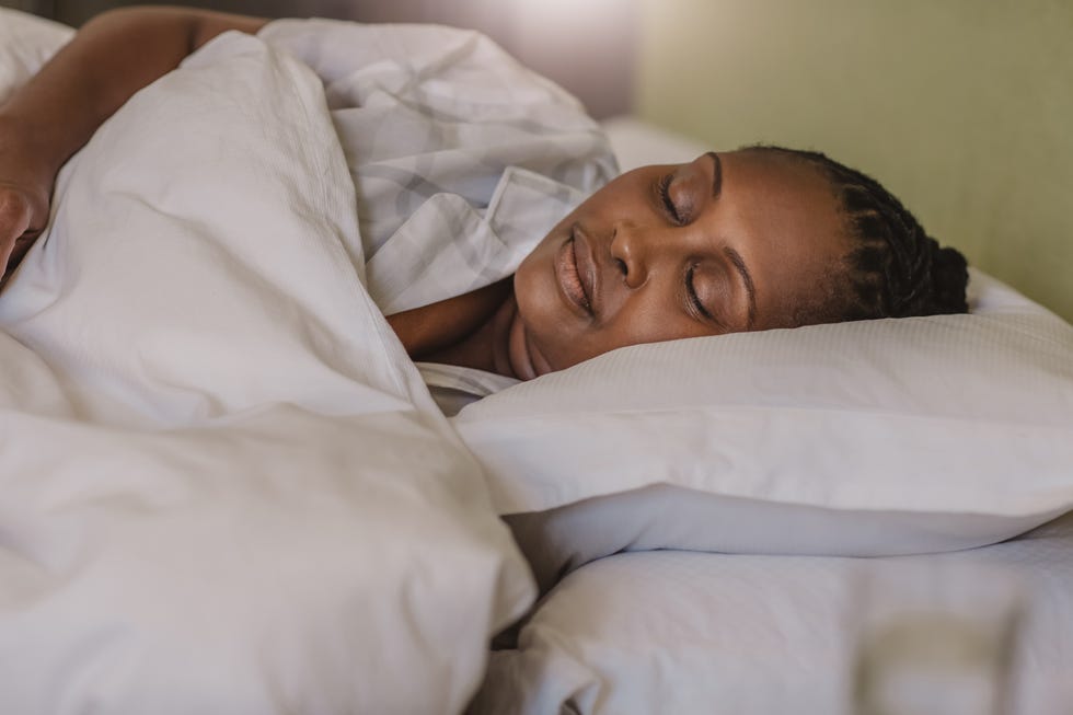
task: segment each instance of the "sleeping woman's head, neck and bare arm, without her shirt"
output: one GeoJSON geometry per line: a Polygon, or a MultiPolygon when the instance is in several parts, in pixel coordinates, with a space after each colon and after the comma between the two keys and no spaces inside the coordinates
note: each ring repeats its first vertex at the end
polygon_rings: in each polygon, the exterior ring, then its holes
{"type": "MultiPolygon", "coordinates": [[[[217,35],[265,25],[105,13],[0,106],[5,278],[45,228],[60,166],[103,122],[217,35]]],[[[600,187],[611,173],[589,171],[595,193],[483,285],[381,304],[409,356],[528,380],[626,345],[967,310],[965,258],[876,181],[821,153],[708,152],[600,187]]]]}

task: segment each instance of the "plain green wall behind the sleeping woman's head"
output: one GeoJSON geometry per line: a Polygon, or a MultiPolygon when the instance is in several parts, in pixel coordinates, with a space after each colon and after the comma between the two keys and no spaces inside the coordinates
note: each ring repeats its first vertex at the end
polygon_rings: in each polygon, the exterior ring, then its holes
{"type": "Polygon", "coordinates": [[[638,114],[820,149],[1073,320],[1073,0],[642,0],[638,114]]]}

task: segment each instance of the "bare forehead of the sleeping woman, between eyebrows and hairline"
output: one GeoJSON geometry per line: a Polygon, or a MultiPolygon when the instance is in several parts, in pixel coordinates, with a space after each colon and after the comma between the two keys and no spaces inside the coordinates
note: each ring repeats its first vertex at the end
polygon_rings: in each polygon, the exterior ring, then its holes
{"type": "Polygon", "coordinates": [[[757,286],[757,326],[788,324],[796,308],[829,291],[850,251],[834,188],[818,166],[783,152],[720,158],[720,211],[757,286]]]}

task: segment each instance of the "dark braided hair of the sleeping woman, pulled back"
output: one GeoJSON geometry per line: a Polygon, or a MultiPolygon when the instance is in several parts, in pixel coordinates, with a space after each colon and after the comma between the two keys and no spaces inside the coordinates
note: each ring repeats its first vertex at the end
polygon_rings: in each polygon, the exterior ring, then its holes
{"type": "Polygon", "coordinates": [[[939,246],[879,182],[818,151],[770,145],[746,150],[778,152],[819,169],[854,239],[855,247],[843,258],[843,275],[835,276],[841,285],[798,307],[795,323],[968,312],[965,256],[939,246]]]}

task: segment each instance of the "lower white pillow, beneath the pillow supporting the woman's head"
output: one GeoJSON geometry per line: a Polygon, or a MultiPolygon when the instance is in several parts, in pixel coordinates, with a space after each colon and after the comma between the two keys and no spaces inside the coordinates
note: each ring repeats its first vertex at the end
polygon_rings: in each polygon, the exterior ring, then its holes
{"type": "Polygon", "coordinates": [[[1066,715],[1071,672],[1073,515],[926,556],[611,556],[493,654],[470,713],[1066,715]]]}

